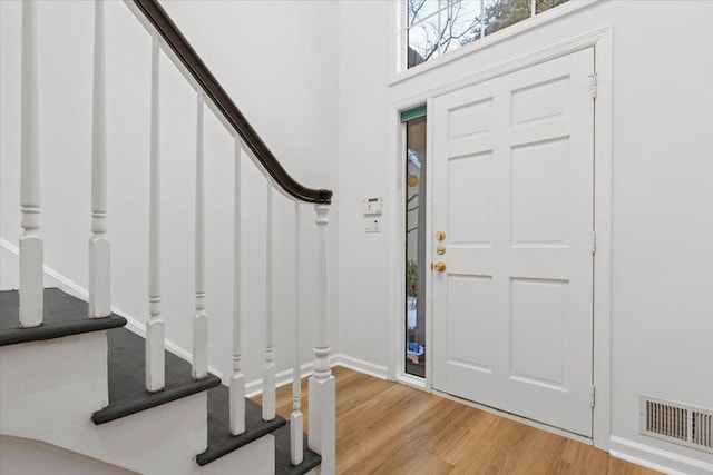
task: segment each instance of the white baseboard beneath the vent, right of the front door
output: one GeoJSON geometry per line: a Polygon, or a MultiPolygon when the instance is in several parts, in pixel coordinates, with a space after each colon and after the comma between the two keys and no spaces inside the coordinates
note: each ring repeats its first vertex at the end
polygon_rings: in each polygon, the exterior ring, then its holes
{"type": "MultiPolygon", "coordinates": [[[[713,463],[699,461],[615,435],[611,437],[609,454],[613,457],[671,475],[713,474],[713,463]]],[[[703,453],[701,453],[701,456],[710,457],[703,453]]],[[[713,461],[713,457],[711,458],[713,461]]]]}

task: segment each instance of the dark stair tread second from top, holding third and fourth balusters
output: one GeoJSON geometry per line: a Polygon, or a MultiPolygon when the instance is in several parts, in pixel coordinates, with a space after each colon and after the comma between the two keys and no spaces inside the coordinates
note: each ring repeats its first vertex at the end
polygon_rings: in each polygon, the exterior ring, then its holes
{"type": "Polygon", "coordinates": [[[95,424],[104,424],[141,410],[207,390],[221,384],[217,376],[199,380],[191,376],[191,363],[165,352],[164,390],[146,390],[145,339],[125,328],[107,331],[109,346],[109,405],[91,416],[95,424]]]}

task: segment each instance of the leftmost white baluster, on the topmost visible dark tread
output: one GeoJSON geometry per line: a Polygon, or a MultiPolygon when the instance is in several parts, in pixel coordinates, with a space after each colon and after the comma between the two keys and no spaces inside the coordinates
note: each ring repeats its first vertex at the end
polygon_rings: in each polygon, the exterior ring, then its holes
{"type": "Polygon", "coordinates": [[[22,2],[20,210],[20,326],[42,324],[45,243],[40,228],[40,154],[37,102],[36,2],[22,2]]]}

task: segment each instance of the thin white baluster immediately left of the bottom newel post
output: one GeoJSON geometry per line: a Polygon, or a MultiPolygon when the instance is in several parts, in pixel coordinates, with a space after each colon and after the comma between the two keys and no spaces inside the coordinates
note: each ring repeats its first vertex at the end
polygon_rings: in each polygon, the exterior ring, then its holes
{"type": "Polygon", "coordinates": [[[290,415],[290,462],[302,463],[302,365],[300,364],[300,204],[294,204],[294,368],[292,373],[292,414],[290,415]]]}

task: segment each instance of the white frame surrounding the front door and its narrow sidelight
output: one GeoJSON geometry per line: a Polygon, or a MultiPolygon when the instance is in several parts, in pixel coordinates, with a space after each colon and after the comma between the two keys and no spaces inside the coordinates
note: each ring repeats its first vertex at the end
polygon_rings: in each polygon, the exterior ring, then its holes
{"type": "MultiPolygon", "coordinates": [[[[391,176],[397,180],[397,194],[393,198],[391,211],[397,226],[391,227],[390,255],[393,259],[390,264],[393,280],[391,284],[392,318],[389,319],[389,367],[390,379],[399,380],[424,390],[432,392],[431,386],[431,333],[432,333],[432,286],[431,273],[427,273],[427,353],[426,353],[426,379],[411,377],[403,372],[404,367],[404,311],[406,291],[403,276],[406,265],[406,232],[404,219],[404,194],[406,169],[404,160],[401,158],[406,154],[406,135],[401,123],[400,112],[423,103],[427,103],[427,159],[432,157],[432,102],[433,98],[487,81],[530,66],[538,65],[551,59],[556,59],[569,53],[595,48],[595,71],[596,78],[596,102],[595,102],[595,137],[594,137],[594,226],[596,231],[596,253],[594,257],[594,385],[596,386],[596,405],[593,416],[593,444],[603,451],[609,449],[611,436],[611,389],[612,389],[612,79],[613,79],[613,28],[611,26],[596,29],[585,34],[554,44],[545,50],[535,51],[527,56],[519,57],[511,61],[498,65],[494,68],[485,69],[458,81],[427,89],[409,98],[391,103],[389,111],[389,123],[391,128],[391,150],[392,157],[399,159],[391,160],[393,167],[391,176]]],[[[594,91],[594,89],[593,89],[594,91]]],[[[431,249],[432,225],[432,174],[427,176],[427,249],[431,249]]],[[[524,422],[526,422],[524,419],[524,422]]],[[[538,425],[540,426],[540,425],[538,425]]],[[[547,428],[543,426],[543,428],[547,428]]],[[[561,433],[561,432],[558,432],[561,433]]],[[[577,437],[578,438],[578,437],[577,437]]]]}

